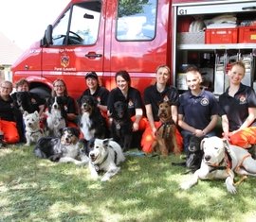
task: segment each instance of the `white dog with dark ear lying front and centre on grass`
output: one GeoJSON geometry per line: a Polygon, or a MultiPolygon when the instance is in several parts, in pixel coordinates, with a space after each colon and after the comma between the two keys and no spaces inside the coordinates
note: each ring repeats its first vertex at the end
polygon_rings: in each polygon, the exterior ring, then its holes
{"type": "Polygon", "coordinates": [[[112,139],[92,139],[88,157],[92,179],[99,179],[99,172],[103,171],[101,181],[107,181],[119,173],[118,165],[125,161],[120,145],[112,139]]]}

